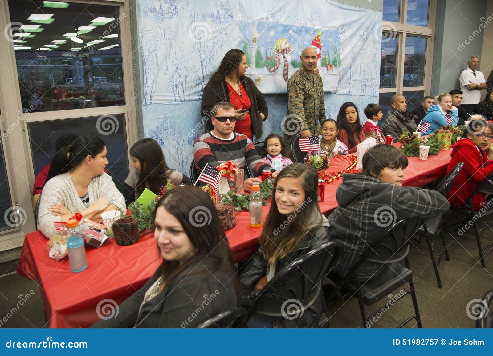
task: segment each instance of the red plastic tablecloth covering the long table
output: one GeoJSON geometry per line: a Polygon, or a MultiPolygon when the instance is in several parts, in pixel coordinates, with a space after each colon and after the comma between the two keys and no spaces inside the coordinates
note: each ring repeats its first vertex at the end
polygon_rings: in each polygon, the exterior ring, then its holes
{"type": "MultiPolygon", "coordinates": [[[[327,171],[347,168],[350,161],[332,159],[327,171]]],[[[450,150],[421,161],[409,158],[404,185],[421,187],[443,176],[450,150]]],[[[336,207],[335,193],[342,178],[325,185],[325,200],[320,210],[328,216],[336,207]]],[[[270,206],[262,207],[265,220],[270,206]]],[[[247,212],[236,213],[236,226],[226,231],[235,262],[249,258],[257,249],[261,228],[248,226],[247,212]]],[[[48,257],[48,240],[39,232],[26,234],[17,273],[37,280],[50,327],[88,327],[99,320],[98,303],[112,299],[120,304],[140,289],[154,273],[160,259],[152,234],[141,237],[137,244],[121,247],[112,240],[100,249],[88,249],[88,267],[84,272],[72,273],[69,261],[55,261],[48,257]]],[[[99,311],[102,310],[100,305],[99,311]]]]}

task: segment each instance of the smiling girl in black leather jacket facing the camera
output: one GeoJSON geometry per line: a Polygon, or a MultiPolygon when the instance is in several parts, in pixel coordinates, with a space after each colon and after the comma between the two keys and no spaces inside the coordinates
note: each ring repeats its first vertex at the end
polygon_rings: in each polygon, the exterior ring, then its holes
{"type": "MultiPolygon", "coordinates": [[[[318,208],[317,184],[315,168],[302,163],[288,165],[279,173],[274,183],[271,209],[260,235],[259,249],[240,271],[242,295],[248,301],[260,292],[252,290],[264,276],[270,281],[282,267],[303,252],[328,242],[328,221],[318,208]]],[[[255,314],[248,326],[317,325],[322,315],[322,303],[323,297],[320,293],[314,304],[294,320],[255,314]]]]}

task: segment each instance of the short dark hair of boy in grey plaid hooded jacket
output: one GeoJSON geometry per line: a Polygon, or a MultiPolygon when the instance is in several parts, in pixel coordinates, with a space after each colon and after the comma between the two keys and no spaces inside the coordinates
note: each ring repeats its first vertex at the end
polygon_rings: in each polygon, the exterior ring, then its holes
{"type": "Polygon", "coordinates": [[[378,178],[383,169],[390,166],[406,168],[409,162],[397,147],[379,144],[366,151],[362,163],[363,174],[378,178]]]}

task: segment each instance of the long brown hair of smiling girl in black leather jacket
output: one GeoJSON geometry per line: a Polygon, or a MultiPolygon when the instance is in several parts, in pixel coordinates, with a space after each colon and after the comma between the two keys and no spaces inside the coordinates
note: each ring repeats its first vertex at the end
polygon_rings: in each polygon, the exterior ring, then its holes
{"type": "Polygon", "coordinates": [[[317,185],[317,171],[303,163],[290,164],[277,176],[272,190],[271,210],[265,219],[259,239],[264,259],[270,264],[287,256],[298,246],[308,234],[309,230],[306,227],[313,216],[321,217],[317,204],[317,185]],[[302,206],[298,206],[294,217],[281,214],[275,201],[277,185],[285,177],[300,179],[305,192],[305,201],[302,206]]]}

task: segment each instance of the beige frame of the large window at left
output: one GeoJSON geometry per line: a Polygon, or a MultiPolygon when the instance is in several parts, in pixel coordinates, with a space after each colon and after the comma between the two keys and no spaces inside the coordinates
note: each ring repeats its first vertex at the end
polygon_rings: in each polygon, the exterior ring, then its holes
{"type": "MultiPolygon", "coordinates": [[[[16,204],[26,211],[25,224],[5,231],[0,231],[0,243],[12,238],[22,238],[27,232],[35,230],[34,212],[32,209],[32,185],[35,181],[34,162],[31,151],[30,138],[27,125],[30,122],[42,122],[64,119],[84,119],[85,117],[118,115],[125,116],[125,147],[128,148],[138,139],[137,115],[136,115],[136,87],[134,84],[134,61],[138,61],[138,54],[134,54],[131,43],[130,17],[134,16],[128,1],[125,0],[69,0],[73,3],[111,5],[119,7],[119,15],[123,16],[120,26],[120,43],[122,51],[123,84],[125,88],[125,105],[107,106],[96,108],[53,110],[32,112],[23,114],[19,127],[13,130],[7,137],[1,140],[5,153],[5,166],[7,169],[10,198],[12,204],[16,204]],[[8,160],[8,161],[7,161],[8,160]],[[26,189],[29,185],[30,189],[26,189]]],[[[0,28],[5,28],[10,23],[8,1],[0,2],[0,28]]],[[[4,36],[0,38],[0,82],[8,83],[0,92],[2,114],[0,115],[1,132],[18,120],[19,110],[22,110],[19,81],[17,80],[17,65],[13,44],[4,36]],[[4,50],[5,49],[5,50],[4,50]],[[7,89],[8,88],[8,89],[7,89]]],[[[130,168],[130,155],[127,160],[127,168],[130,168]]]]}

